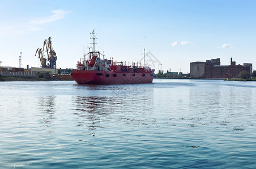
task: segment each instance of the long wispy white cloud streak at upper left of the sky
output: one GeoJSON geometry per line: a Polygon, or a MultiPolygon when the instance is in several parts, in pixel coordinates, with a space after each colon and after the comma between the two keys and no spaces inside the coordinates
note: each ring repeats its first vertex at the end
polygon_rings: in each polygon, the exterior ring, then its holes
{"type": "Polygon", "coordinates": [[[69,13],[69,12],[62,11],[62,10],[54,10],[52,12],[53,12],[52,16],[42,17],[42,18],[39,18],[37,20],[32,20],[31,23],[39,24],[39,25],[46,24],[46,23],[51,23],[53,21],[63,19],[65,17],[65,15],[69,13]]]}

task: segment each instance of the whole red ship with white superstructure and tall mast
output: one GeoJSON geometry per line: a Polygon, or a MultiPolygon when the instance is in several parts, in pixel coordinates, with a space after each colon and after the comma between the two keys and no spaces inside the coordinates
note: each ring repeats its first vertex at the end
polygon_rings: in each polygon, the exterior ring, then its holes
{"type": "MultiPolygon", "coordinates": [[[[125,65],[123,62],[113,62],[95,51],[95,33],[93,30],[93,51],[84,55],[81,63],[78,61],[72,77],[78,84],[140,84],[152,83],[154,69],[139,63],[125,65]],[[86,59],[87,56],[87,59],[86,59]]],[[[145,55],[144,55],[145,57],[145,55]]]]}

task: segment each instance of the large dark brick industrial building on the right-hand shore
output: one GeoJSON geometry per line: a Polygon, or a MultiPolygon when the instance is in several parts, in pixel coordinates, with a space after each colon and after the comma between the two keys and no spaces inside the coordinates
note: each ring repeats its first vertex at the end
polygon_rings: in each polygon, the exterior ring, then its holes
{"type": "Polygon", "coordinates": [[[204,78],[236,78],[237,75],[246,71],[252,73],[253,64],[245,63],[244,65],[236,65],[236,62],[231,58],[230,65],[220,65],[220,58],[206,60],[206,62],[190,63],[191,77],[204,78]]]}

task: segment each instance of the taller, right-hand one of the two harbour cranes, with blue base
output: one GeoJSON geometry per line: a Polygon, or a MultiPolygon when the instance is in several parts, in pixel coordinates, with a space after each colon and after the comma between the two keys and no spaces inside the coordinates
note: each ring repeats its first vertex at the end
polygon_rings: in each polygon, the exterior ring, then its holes
{"type": "Polygon", "coordinates": [[[46,48],[48,60],[50,61],[50,68],[56,69],[57,56],[56,56],[56,52],[53,50],[52,41],[50,40],[50,37],[48,38],[48,40],[45,39],[44,47],[42,48],[42,50],[44,50],[44,48],[46,48]]]}

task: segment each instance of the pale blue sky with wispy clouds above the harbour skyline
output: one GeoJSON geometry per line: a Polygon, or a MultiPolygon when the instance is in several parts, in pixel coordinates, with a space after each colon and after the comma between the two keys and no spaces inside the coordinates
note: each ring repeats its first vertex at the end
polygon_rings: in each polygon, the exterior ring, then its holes
{"type": "Polygon", "coordinates": [[[189,72],[189,63],[220,58],[256,65],[256,1],[0,1],[2,66],[39,66],[37,48],[52,37],[57,68],[75,68],[91,47],[117,61],[189,72]],[[149,56],[148,56],[149,57],[149,56]],[[148,64],[150,64],[150,59],[148,64]],[[151,64],[152,65],[152,64],[151,64]]]}

